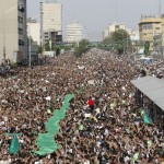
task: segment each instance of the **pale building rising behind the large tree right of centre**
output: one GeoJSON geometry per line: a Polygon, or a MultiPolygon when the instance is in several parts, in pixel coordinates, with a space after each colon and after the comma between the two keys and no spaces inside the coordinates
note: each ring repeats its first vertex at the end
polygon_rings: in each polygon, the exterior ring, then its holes
{"type": "Polygon", "coordinates": [[[106,37],[110,37],[112,33],[118,30],[126,30],[126,25],[124,23],[116,23],[116,22],[109,24],[107,28],[104,30],[103,39],[105,39],[106,37]]]}

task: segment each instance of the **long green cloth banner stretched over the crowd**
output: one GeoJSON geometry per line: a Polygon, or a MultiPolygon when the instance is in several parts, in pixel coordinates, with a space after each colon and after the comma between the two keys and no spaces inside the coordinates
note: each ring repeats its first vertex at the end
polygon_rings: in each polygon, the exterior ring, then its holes
{"type": "MultiPolygon", "coordinates": [[[[45,124],[47,128],[47,133],[39,133],[37,138],[37,147],[39,148],[39,151],[33,151],[34,153],[38,155],[46,155],[56,152],[58,149],[61,148],[58,143],[55,141],[55,136],[59,132],[60,129],[60,121],[66,117],[67,110],[70,106],[70,101],[74,97],[74,94],[68,94],[65,97],[62,107],[60,109],[56,109],[52,113],[52,117],[48,119],[48,121],[45,124]]],[[[50,109],[49,109],[50,110],[50,109]]],[[[47,110],[49,113],[49,110],[47,110]]],[[[51,113],[51,110],[50,110],[51,113]]]]}

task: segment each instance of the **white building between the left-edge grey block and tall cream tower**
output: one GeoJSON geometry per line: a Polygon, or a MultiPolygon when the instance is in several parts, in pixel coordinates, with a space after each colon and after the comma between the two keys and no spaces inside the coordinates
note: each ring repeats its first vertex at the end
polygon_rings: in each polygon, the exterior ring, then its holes
{"type": "Polygon", "coordinates": [[[36,20],[27,20],[27,36],[31,37],[33,42],[37,43],[37,45],[40,45],[39,30],[40,25],[36,20]]]}

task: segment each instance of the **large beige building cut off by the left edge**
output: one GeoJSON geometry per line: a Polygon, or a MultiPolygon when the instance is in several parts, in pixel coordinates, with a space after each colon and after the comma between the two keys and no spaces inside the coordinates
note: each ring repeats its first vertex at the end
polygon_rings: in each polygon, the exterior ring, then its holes
{"type": "Polygon", "coordinates": [[[26,0],[0,0],[0,62],[26,57],[26,0]]]}

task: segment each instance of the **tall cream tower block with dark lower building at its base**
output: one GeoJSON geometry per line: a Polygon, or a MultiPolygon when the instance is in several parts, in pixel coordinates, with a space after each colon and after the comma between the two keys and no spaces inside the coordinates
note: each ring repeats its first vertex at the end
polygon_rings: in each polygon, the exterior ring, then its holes
{"type": "Polygon", "coordinates": [[[54,1],[40,2],[40,40],[45,45],[62,40],[62,5],[54,1]]]}

